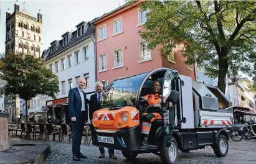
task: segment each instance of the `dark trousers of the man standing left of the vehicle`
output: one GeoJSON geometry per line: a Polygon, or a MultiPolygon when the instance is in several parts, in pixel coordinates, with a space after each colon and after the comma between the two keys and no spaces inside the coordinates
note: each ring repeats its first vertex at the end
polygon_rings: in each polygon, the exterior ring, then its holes
{"type": "Polygon", "coordinates": [[[85,120],[87,120],[87,111],[80,112],[80,118],[77,121],[72,121],[72,153],[73,155],[80,156],[80,146],[83,137],[83,127],[85,126],[85,120]]]}

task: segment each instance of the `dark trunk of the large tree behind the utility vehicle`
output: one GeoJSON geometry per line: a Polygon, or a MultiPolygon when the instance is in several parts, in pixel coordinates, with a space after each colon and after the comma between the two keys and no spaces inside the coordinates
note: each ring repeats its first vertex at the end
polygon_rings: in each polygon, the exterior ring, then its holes
{"type": "Polygon", "coordinates": [[[225,80],[227,76],[227,71],[229,70],[229,65],[227,63],[227,59],[219,58],[219,76],[218,76],[218,88],[222,93],[225,94],[225,80]]]}

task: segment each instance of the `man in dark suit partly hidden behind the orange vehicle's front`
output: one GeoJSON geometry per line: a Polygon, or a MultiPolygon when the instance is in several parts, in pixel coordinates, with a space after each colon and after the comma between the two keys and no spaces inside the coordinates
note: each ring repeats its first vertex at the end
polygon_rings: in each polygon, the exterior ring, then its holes
{"type": "MultiPolygon", "coordinates": [[[[89,117],[90,120],[92,120],[93,117],[93,112],[97,111],[98,109],[101,108],[100,106],[100,99],[102,98],[102,91],[103,91],[103,84],[102,82],[98,81],[95,84],[95,94],[92,94],[90,97],[90,103],[89,103],[89,117]]],[[[99,147],[100,150],[100,156],[99,158],[105,157],[105,149],[104,147],[99,147]]],[[[108,154],[110,158],[116,159],[117,157],[114,155],[114,149],[113,148],[108,148],[108,154]]]]}

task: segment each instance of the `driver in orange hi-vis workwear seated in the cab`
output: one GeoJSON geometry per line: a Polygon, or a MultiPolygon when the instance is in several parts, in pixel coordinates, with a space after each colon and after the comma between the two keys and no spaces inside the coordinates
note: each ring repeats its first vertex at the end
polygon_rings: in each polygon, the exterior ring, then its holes
{"type": "MultiPolygon", "coordinates": [[[[154,107],[156,109],[161,107],[161,98],[159,96],[159,90],[161,88],[161,85],[159,83],[159,81],[154,81],[153,83],[153,94],[147,94],[146,96],[143,96],[142,98],[145,99],[146,101],[148,101],[148,108],[150,107],[154,107]]],[[[148,112],[148,111],[147,111],[148,112]]],[[[141,127],[141,133],[145,135],[145,139],[143,140],[142,144],[143,145],[148,145],[148,135],[149,135],[149,131],[151,128],[151,123],[155,120],[155,119],[162,119],[161,114],[156,113],[156,112],[152,112],[152,113],[143,113],[141,116],[142,119],[142,127],[141,127]]]]}

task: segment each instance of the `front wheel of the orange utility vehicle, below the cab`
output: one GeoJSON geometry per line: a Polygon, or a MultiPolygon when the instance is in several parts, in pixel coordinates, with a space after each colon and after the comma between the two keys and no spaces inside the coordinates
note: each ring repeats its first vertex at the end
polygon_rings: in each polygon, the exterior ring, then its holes
{"type": "MultiPolygon", "coordinates": [[[[164,144],[163,144],[164,145],[164,144]]],[[[173,164],[178,162],[179,149],[178,143],[174,137],[171,137],[171,146],[161,148],[161,161],[165,164],[173,164]]]]}

